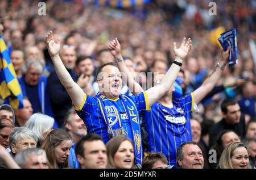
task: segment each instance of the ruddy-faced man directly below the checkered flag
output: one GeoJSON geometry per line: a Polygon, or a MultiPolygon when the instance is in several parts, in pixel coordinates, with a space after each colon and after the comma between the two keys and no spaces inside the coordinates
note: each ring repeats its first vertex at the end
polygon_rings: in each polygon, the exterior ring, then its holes
{"type": "Polygon", "coordinates": [[[23,108],[14,110],[15,112],[15,127],[23,127],[28,118],[33,114],[33,109],[30,101],[23,97],[23,108]]]}

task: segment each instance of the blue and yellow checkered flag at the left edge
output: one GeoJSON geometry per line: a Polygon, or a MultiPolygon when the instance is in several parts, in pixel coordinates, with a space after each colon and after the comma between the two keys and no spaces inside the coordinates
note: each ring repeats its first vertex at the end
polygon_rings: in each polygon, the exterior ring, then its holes
{"type": "Polygon", "coordinates": [[[0,97],[14,109],[23,108],[19,82],[2,35],[0,35],[0,97]]]}

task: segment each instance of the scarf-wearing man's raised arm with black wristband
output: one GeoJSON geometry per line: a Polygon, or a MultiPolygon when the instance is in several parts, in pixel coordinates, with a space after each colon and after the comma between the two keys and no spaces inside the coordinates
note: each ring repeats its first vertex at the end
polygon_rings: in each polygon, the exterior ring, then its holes
{"type": "Polygon", "coordinates": [[[191,50],[191,46],[192,42],[190,38],[186,41],[186,38],[184,37],[181,46],[178,49],[174,42],[174,53],[176,55],[174,62],[163,77],[159,86],[154,86],[147,90],[148,103],[150,106],[162,98],[163,95],[171,89],[175,79],[177,78],[177,74],[180,71],[181,63],[191,50]]]}

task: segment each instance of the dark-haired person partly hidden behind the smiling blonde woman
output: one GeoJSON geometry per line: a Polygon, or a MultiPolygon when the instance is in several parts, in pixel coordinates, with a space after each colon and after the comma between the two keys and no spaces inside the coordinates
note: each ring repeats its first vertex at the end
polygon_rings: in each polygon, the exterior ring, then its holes
{"type": "Polygon", "coordinates": [[[212,168],[217,167],[221,153],[226,148],[226,146],[234,142],[241,142],[240,137],[238,137],[238,135],[234,131],[225,130],[220,133],[220,136],[218,136],[216,143],[211,148],[215,149],[217,152],[217,162],[210,164],[212,168]]]}

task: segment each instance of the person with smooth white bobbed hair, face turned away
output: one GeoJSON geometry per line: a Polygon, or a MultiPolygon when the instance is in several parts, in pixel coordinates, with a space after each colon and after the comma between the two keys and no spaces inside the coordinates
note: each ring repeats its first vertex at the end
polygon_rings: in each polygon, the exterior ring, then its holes
{"type": "Polygon", "coordinates": [[[35,113],[27,120],[24,127],[31,129],[38,137],[38,147],[43,143],[49,132],[52,131],[54,119],[51,116],[35,113]]]}

